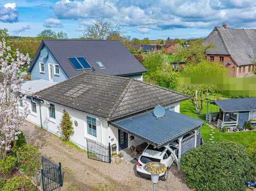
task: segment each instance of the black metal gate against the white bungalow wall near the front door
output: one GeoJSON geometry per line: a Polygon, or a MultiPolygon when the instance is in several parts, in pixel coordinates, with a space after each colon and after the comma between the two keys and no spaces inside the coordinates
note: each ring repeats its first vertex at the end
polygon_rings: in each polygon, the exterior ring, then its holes
{"type": "Polygon", "coordinates": [[[111,148],[110,143],[104,145],[95,140],[86,139],[87,155],[89,159],[99,160],[102,162],[111,163],[111,148]]]}

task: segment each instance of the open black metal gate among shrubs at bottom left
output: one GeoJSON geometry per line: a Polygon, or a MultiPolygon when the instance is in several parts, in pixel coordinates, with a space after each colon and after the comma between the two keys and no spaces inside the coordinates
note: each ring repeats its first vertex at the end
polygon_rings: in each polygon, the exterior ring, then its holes
{"type": "Polygon", "coordinates": [[[53,191],[63,186],[61,163],[56,163],[46,156],[41,156],[42,190],[53,191]]]}

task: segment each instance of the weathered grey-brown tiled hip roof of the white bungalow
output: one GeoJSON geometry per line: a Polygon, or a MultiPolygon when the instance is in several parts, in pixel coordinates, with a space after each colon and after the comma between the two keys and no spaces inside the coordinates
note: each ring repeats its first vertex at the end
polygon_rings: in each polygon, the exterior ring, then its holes
{"type": "Polygon", "coordinates": [[[188,96],[126,77],[85,73],[35,94],[60,105],[110,120],[188,96]]]}

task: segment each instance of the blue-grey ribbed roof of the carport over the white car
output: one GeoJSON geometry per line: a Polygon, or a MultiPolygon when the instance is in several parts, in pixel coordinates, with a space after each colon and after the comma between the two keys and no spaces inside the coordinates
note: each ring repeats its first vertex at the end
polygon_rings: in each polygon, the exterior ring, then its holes
{"type": "Polygon", "coordinates": [[[132,134],[151,145],[161,147],[200,127],[204,121],[166,109],[165,116],[156,118],[153,111],[144,112],[109,124],[132,134]]]}

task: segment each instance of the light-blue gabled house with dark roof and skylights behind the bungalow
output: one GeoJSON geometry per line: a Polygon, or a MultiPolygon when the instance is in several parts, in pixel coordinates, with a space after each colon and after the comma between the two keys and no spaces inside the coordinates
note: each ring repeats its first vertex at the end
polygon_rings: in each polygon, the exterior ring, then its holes
{"type": "Polygon", "coordinates": [[[146,71],[118,40],[43,40],[28,69],[32,80],[56,83],[83,72],[142,80],[146,71]]]}

